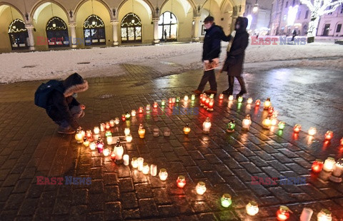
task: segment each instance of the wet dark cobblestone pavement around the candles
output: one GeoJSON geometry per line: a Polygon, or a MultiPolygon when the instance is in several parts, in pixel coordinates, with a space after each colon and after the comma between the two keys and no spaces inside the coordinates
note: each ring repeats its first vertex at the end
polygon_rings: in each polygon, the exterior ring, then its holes
{"type": "MultiPolygon", "coordinates": [[[[128,73],[117,78],[88,79],[89,90],[78,98],[86,105],[86,115],[80,122],[84,129],[154,101],[190,96],[189,91],[201,78],[200,71],[159,77],[145,67],[124,68],[128,73]]],[[[289,72],[288,76],[299,74],[299,70],[289,72]]],[[[339,123],[343,111],[337,99],[342,98],[338,90],[342,76],[332,73],[328,76],[331,80],[322,82],[330,85],[327,92],[332,96],[312,88],[309,82],[301,82],[301,75],[292,81],[275,81],[279,77],[275,70],[259,73],[258,79],[246,75],[249,95],[262,101],[271,96],[280,119],[290,124],[282,134],[262,128],[262,116],[266,115],[263,108],[249,107],[245,101],[242,106],[237,101],[228,106],[227,98],[222,102],[215,98],[213,112],[201,108],[197,98],[194,103],[181,102],[179,107],[199,108],[198,115],[173,115],[173,106],[152,108],[150,114],[137,114],[111,128],[114,135],[124,135],[124,128],[130,126],[133,141],[125,144],[125,153],[130,158],[142,157],[158,169],[166,168],[166,181],[131,166],[116,165],[110,158],[77,144],[74,135],[59,135],[44,110],[34,106],[33,94],[40,82],[1,85],[0,220],[275,220],[279,205],[292,210],[289,220],[299,220],[304,207],[314,210],[312,220],[317,219],[322,208],[331,210],[334,220],[343,220],[342,183],[321,181],[311,172],[316,158],[342,157],[339,138],[343,131],[339,123]],[[310,115],[311,111],[316,115],[310,115]],[[249,132],[244,132],[241,125],[247,113],[252,115],[253,123],[249,132]],[[209,135],[202,133],[207,117],[212,121],[209,135]],[[225,128],[230,119],[236,120],[237,128],[228,134],[225,128]],[[309,142],[304,132],[294,137],[294,119],[305,125],[304,130],[307,124],[316,125],[317,142],[309,142]],[[139,123],[146,128],[144,139],[137,133],[139,123]],[[186,123],[192,128],[189,135],[183,134],[186,123]],[[334,139],[323,144],[323,131],[329,125],[334,139]],[[154,138],[153,128],[170,128],[172,135],[154,138]],[[177,187],[178,175],[186,177],[183,189],[177,187]],[[37,176],[90,177],[91,185],[36,185],[37,176]],[[252,176],[304,177],[307,182],[252,185],[252,176]],[[207,186],[202,196],[195,192],[199,181],[207,186]],[[232,195],[229,208],[220,205],[225,192],[232,195]],[[259,204],[255,217],[245,212],[249,200],[259,204]]],[[[312,83],[317,81],[320,86],[319,73],[312,77],[312,83]]],[[[224,86],[223,75],[219,88],[226,89],[224,86]]]]}

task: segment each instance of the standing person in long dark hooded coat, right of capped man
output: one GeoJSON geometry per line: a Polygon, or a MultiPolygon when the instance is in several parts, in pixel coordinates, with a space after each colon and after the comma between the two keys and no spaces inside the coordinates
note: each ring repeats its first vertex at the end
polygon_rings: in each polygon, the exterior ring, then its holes
{"type": "MultiPolygon", "coordinates": [[[[236,34],[234,35],[231,48],[228,48],[229,51],[227,51],[227,58],[224,62],[224,67],[222,70],[227,71],[227,76],[229,80],[229,88],[226,91],[223,91],[222,93],[227,95],[233,94],[234,77],[236,77],[239,82],[239,85],[241,86],[241,91],[237,94],[237,98],[239,96],[243,96],[244,93],[247,93],[244,78],[242,77],[245,49],[249,44],[249,34],[247,33],[247,26],[247,18],[237,18],[234,29],[236,31],[236,34]]],[[[230,36],[230,38],[232,38],[232,36],[230,36]]]]}

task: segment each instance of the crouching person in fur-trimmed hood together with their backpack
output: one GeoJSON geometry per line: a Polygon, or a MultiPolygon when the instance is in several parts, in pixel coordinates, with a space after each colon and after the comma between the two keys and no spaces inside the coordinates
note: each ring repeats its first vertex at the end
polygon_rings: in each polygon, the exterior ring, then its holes
{"type": "Polygon", "coordinates": [[[59,125],[58,133],[73,134],[79,127],[77,120],[84,116],[86,108],[76,101],[77,93],[87,89],[88,82],[78,73],[73,73],[64,81],[51,80],[41,84],[34,100],[59,125]]]}

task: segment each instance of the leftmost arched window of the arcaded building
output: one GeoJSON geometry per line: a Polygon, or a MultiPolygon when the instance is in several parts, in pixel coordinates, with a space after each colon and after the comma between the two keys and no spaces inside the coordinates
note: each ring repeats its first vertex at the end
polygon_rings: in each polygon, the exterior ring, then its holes
{"type": "Polygon", "coordinates": [[[28,48],[27,38],[29,38],[29,34],[27,34],[24,21],[20,19],[12,21],[9,25],[9,40],[12,50],[28,48]]]}

